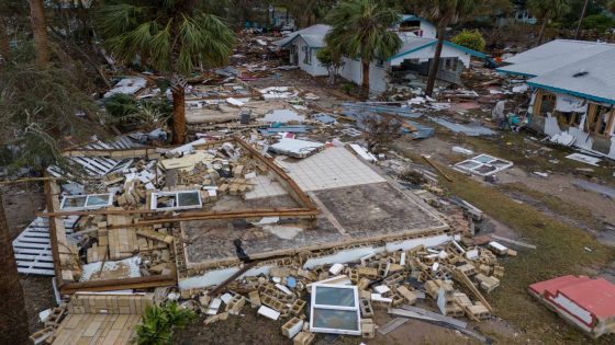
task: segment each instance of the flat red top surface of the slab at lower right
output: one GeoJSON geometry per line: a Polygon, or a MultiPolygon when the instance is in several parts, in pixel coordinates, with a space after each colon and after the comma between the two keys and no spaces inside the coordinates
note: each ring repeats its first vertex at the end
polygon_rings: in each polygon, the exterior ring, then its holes
{"type": "Polygon", "coordinates": [[[559,292],[599,318],[615,317],[615,285],[603,278],[579,281],[559,292]]]}

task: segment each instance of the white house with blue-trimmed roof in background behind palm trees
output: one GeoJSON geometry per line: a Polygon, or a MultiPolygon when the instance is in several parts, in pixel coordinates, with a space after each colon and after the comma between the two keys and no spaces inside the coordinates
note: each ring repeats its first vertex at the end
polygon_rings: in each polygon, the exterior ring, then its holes
{"type": "MultiPolygon", "coordinates": [[[[429,73],[429,66],[433,61],[437,39],[435,35],[427,34],[431,31],[426,26],[417,33],[413,30],[404,30],[404,23],[402,22],[400,27],[396,28],[398,35],[402,41],[402,47],[398,54],[392,57],[374,60],[370,65],[370,89],[372,92],[380,93],[387,91],[393,84],[395,77],[403,80],[409,73],[417,73],[425,77],[429,73]]],[[[318,61],[316,55],[320,49],[326,46],[325,36],[329,30],[331,26],[328,25],[313,25],[277,42],[277,45],[280,48],[288,48],[291,64],[299,66],[301,70],[310,76],[327,76],[327,67],[318,61]]],[[[446,82],[459,83],[461,71],[470,66],[472,56],[478,58],[487,57],[482,53],[445,42],[437,78],[446,82]]],[[[361,61],[356,58],[345,57],[338,73],[344,79],[360,85],[362,82],[361,61]]]]}

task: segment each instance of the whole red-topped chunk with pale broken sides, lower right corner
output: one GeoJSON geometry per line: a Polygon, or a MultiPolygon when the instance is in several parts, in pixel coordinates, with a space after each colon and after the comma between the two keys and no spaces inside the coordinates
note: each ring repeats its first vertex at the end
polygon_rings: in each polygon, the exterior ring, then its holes
{"type": "Polygon", "coordinates": [[[529,286],[529,294],[592,337],[615,332],[615,285],[562,276],[529,286]]]}

